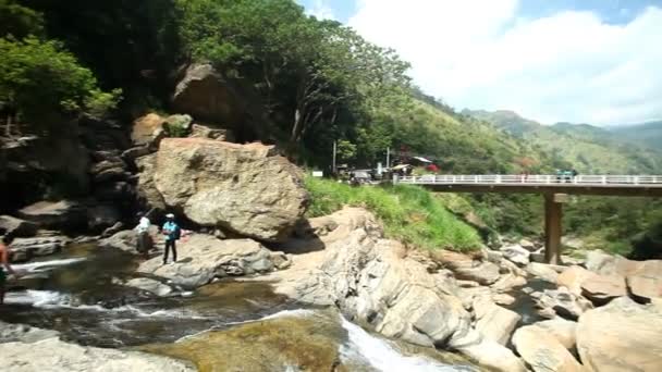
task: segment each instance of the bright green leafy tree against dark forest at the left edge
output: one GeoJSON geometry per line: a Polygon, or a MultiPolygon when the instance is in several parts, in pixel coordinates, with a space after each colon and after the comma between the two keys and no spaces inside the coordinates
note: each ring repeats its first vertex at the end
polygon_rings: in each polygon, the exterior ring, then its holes
{"type": "Polygon", "coordinates": [[[33,125],[83,110],[103,114],[120,99],[121,90],[101,91],[91,71],[58,41],[0,38],[0,101],[33,125]]]}

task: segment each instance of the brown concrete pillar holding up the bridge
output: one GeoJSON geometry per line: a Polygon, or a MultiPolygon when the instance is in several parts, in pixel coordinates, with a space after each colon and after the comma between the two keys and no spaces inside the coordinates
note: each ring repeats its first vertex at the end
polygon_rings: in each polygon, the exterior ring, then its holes
{"type": "Polygon", "coordinates": [[[561,220],[565,194],[544,194],[544,260],[547,263],[561,263],[561,220]]]}

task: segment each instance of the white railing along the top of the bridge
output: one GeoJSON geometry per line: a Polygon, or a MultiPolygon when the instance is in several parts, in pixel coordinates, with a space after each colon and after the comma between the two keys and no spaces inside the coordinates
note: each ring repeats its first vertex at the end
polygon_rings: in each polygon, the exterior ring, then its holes
{"type": "Polygon", "coordinates": [[[397,184],[412,185],[610,185],[662,187],[662,175],[555,175],[555,174],[480,174],[400,176],[397,184]]]}

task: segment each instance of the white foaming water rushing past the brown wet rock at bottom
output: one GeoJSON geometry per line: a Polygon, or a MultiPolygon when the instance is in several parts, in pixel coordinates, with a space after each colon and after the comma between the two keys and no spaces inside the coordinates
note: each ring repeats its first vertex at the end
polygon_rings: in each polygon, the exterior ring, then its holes
{"type": "MultiPolygon", "coordinates": [[[[342,317],[341,317],[342,318],[342,317]]],[[[348,359],[368,362],[382,372],[471,372],[466,365],[448,365],[425,357],[407,357],[395,350],[385,340],[377,338],[360,326],[341,319],[342,326],[350,335],[350,342],[340,349],[341,356],[348,359]]]]}

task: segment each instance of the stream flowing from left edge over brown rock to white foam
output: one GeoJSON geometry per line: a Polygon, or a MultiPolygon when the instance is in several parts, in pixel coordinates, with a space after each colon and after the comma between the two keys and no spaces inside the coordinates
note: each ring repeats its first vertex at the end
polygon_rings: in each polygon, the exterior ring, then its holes
{"type": "Polygon", "coordinates": [[[456,356],[387,340],[332,309],[305,309],[259,282],[221,281],[168,298],[121,285],[133,255],[94,245],[15,269],[0,320],[82,345],[137,348],[200,371],[478,371],[456,356]]]}

